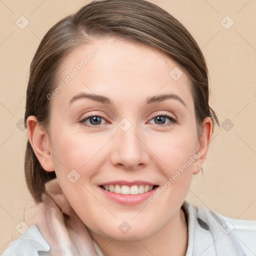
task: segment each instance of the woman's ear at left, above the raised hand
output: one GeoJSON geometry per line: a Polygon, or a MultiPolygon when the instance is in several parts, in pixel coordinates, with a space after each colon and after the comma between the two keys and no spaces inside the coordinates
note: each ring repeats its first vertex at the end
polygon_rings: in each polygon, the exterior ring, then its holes
{"type": "Polygon", "coordinates": [[[41,129],[34,115],[27,117],[26,126],[29,142],[41,166],[46,171],[53,171],[54,164],[48,134],[41,129]]]}

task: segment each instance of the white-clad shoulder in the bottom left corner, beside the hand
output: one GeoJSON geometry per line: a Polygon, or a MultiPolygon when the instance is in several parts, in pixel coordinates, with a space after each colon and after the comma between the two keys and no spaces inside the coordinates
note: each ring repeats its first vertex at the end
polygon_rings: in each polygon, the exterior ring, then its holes
{"type": "Polygon", "coordinates": [[[50,247],[36,225],[31,225],[24,234],[12,241],[1,256],[48,255],[50,247]]]}

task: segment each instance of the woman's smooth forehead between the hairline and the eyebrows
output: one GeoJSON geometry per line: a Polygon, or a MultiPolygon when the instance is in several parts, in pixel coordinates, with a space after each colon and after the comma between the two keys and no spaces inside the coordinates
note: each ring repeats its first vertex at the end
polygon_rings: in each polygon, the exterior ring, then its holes
{"type": "Polygon", "coordinates": [[[57,86],[63,86],[55,99],[65,102],[78,92],[107,95],[120,103],[162,93],[192,100],[188,79],[173,60],[149,46],[114,37],[76,48],[60,70],[57,86]]]}

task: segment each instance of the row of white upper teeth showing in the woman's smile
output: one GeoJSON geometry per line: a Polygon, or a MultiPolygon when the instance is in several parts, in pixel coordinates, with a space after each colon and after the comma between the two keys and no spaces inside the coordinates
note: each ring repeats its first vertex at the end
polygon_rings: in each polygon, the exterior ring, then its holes
{"type": "Polygon", "coordinates": [[[152,185],[103,185],[105,190],[119,194],[142,194],[153,189],[152,185]]]}

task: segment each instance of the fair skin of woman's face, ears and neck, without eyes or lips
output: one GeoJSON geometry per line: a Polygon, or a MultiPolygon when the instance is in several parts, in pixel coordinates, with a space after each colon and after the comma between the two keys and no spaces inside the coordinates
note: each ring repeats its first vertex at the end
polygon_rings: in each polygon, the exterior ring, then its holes
{"type": "Polygon", "coordinates": [[[104,255],[185,255],[187,225],[180,207],[192,174],[205,159],[211,119],[202,121],[198,136],[184,72],[174,80],[169,72],[177,64],[170,58],[113,37],[75,49],[63,61],[58,81],[94,48],[99,50],[95,57],[51,99],[49,126],[39,127],[34,116],[27,118],[30,143],[43,168],[55,170],[67,200],[104,255]],[[113,105],[87,98],[69,103],[80,92],[104,95],[113,105]],[[145,105],[148,97],[165,93],[178,95],[185,106],[175,98],[145,105]],[[86,114],[102,116],[101,123],[79,122],[86,114]],[[177,123],[153,118],[162,114],[177,123]],[[131,123],[127,131],[118,126],[123,118],[131,123]],[[196,151],[200,156],[154,202],[123,205],[106,198],[98,187],[119,179],[160,187],[196,151]],[[80,175],[75,183],[67,178],[72,169],[80,175]],[[131,227],[125,234],[118,228],[123,221],[131,227]]]}

